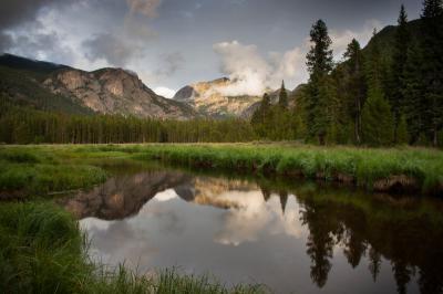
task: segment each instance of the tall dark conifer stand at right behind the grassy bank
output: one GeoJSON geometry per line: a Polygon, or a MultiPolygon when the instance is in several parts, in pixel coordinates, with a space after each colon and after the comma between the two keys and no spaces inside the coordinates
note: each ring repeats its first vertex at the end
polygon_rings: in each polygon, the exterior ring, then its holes
{"type": "Polygon", "coordinates": [[[251,119],[256,133],[320,145],[442,144],[442,0],[425,0],[419,33],[410,28],[402,6],[390,51],[374,30],[364,50],[353,39],[336,64],[328,28],[318,20],[310,31],[308,84],[291,109],[284,86],[276,106],[266,94],[251,119]]]}

